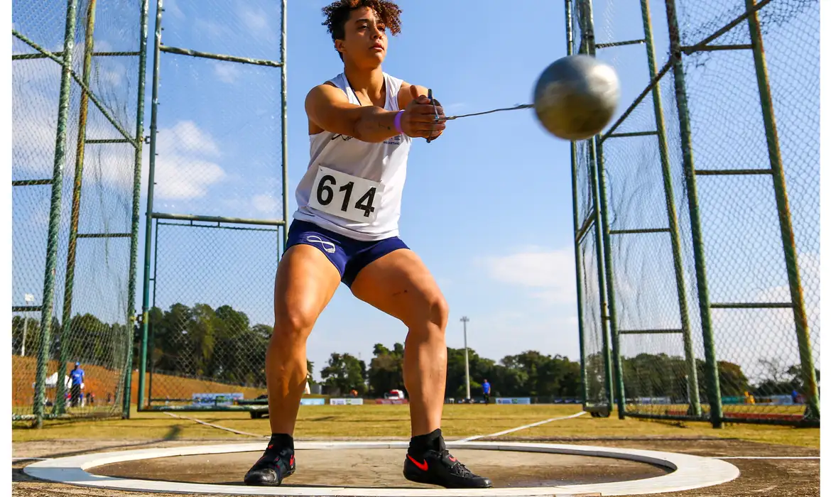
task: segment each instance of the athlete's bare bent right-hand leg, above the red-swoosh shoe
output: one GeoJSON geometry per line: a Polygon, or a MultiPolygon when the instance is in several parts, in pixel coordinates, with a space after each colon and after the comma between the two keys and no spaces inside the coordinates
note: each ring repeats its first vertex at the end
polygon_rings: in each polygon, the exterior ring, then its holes
{"type": "Polygon", "coordinates": [[[352,293],[409,328],[404,384],[410,395],[412,435],[440,428],[447,376],[448,308],[430,271],[416,253],[396,250],[361,269],[352,283],[352,293]]]}

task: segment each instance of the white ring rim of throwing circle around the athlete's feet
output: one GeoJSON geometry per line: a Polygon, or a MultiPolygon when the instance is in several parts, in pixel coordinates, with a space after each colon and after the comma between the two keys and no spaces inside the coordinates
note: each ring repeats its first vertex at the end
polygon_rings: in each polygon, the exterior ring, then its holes
{"type": "MultiPolygon", "coordinates": [[[[297,450],[406,450],[408,443],[401,442],[297,442],[297,450]]],[[[583,485],[558,485],[540,487],[492,488],[481,490],[406,489],[406,488],[355,488],[344,486],[285,486],[249,487],[243,485],[214,485],[182,483],[160,480],[132,480],[112,476],[93,475],[86,470],[96,466],[111,465],[132,460],[146,460],[160,457],[184,455],[230,454],[235,452],[260,452],[263,442],[234,445],[197,445],[164,449],[125,450],[75,455],[52,460],[43,460],[28,465],[24,472],[34,478],[67,485],[81,485],[112,490],[134,490],[145,492],[167,492],[178,494],[220,494],[220,495],[344,495],[351,497],[430,497],[440,495],[646,495],[661,492],[699,489],[720,485],[739,476],[739,469],[723,460],[697,455],[659,452],[656,450],[618,449],[591,445],[529,444],[504,442],[448,442],[449,449],[455,450],[509,450],[516,452],[542,452],[549,454],[583,455],[631,460],[657,465],[668,470],[666,475],[583,485]]]]}

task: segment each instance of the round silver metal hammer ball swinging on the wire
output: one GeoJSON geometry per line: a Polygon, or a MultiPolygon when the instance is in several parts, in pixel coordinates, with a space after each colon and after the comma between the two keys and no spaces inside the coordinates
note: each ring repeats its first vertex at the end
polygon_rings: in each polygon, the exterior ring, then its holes
{"type": "Polygon", "coordinates": [[[620,83],[612,66],[588,55],[563,57],[545,68],[534,87],[534,113],[563,140],[586,140],[612,121],[620,83]]]}

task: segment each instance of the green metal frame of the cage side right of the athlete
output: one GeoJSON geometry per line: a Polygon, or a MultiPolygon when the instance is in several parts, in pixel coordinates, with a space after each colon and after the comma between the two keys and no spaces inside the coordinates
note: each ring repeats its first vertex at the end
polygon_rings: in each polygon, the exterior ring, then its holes
{"type": "MultiPolygon", "coordinates": [[[[573,0],[565,0],[566,8],[566,30],[567,30],[567,47],[568,55],[573,54],[574,40],[573,40],[573,25],[572,12],[573,0]]],[[[697,42],[692,46],[682,46],[679,35],[676,5],[675,0],[666,0],[666,20],[670,31],[671,44],[671,58],[666,65],[660,70],[656,68],[655,47],[652,37],[652,22],[651,14],[649,12],[649,5],[647,0],[641,1],[642,21],[644,29],[644,38],[642,40],[630,40],[623,42],[607,42],[594,43],[593,37],[593,22],[592,22],[592,5],[591,0],[574,0],[577,2],[578,8],[581,8],[581,21],[583,22],[583,39],[580,40],[580,52],[594,55],[597,48],[618,47],[622,45],[644,44],[647,49],[648,69],[651,76],[651,82],[642,93],[632,102],[632,105],[622,113],[622,116],[610,127],[605,135],[596,136],[590,141],[589,149],[589,171],[590,180],[593,185],[593,193],[597,195],[593,209],[594,212],[586,216],[582,226],[578,226],[579,212],[578,212],[578,190],[577,190],[577,148],[574,143],[571,147],[572,168],[573,168],[573,208],[574,208],[574,233],[575,233],[575,266],[578,279],[578,312],[579,317],[583,317],[583,274],[582,263],[580,261],[579,245],[583,238],[588,234],[589,229],[602,229],[602,237],[597,236],[597,250],[598,250],[598,269],[605,268],[605,271],[600,269],[598,279],[601,283],[601,288],[598,297],[601,300],[602,317],[604,322],[609,321],[609,328],[611,333],[611,348],[614,356],[613,360],[613,377],[615,379],[615,393],[617,400],[617,408],[619,415],[644,417],[654,419],[702,419],[704,416],[709,416],[711,424],[714,428],[720,428],[724,422],[742,422],[742,423],[757,423],[757,424],[772,424],[772,425],[790,425],[790,426],[818,426],[819,425],[819,396],[816,389],[816,379],[814,374],[814,360],[811,354],[810,335],[808,329],[808,320],[804,309],[804,298],[802,296],[802,287],[799,280],[799,267],[797,263],[796,247],[794,243],[794,233],[790,221],[787,190],[784,183],[784,171],[782,168],[781,155],[779,153],[779,141],[776,133],[776,125],[774,119],[773,103],[770,96],[770,86],[768,81],[767,69],[765,64],[765,51],[761,39],[761,32],[759,27],[759,20],[757,12],[761,7],[764,7],[770,0],[762,0],[755,3],[755,0],[745,0],[746,12],[736,17],[732,21],[720,27],[713,32],[709,37],[697,42]],[[710,42],[717,39],[725,32],[738,26],[740,22],[747,21],[750,27],[750,38],[752,43],[736,44],[736,45],[709,45],[710,42]],[[760,89],[760,105],[762,108],[762,115],[765,121],[765,135],[768,142],[768,150],[770,156],[770,169],[768,170],[696,170],[693,160],[692,145],[691,145],[691,125],[689,110],[686,99],[686,81],[683,68],[682,57],[694,52],[704,51],[724,51],[724,50],[752,50],[754,52],[755,71],[757,82],[760,89]],[[706,382],[708,391],[709,412],[702,413],[701,400],[699,398],[698,389],[698,372],[696,368],[696,358],[692,345],[692,332],[690,317],[688,313],[688,303],[686,298],[685,278],[681,254],[681,234],[678,226],[678,219],[675,209],[675,199],[673,194],[673,186],[671,180],[671,167],[668,154],[668,145],[666,139],[666,125],[663,119],[663,109],[661,103],[661,90],[659,81],[667,72],[673,72],[673,79],[676,94],[676,111],[681,128],[681,150],[683,152],[683,170],[684,180],[687,192],[688,208],[690,210],[690,221],[693,242],[693,257],[695,259],[696,268],[696,289],[699,300],[699,314],[701,317],[702,337],[705,349],[706,358],[706,382]],[[652,93],[653,106],[656,119],[656,130],[635,131],[627,133],[616,133],[618,126],[622,121],[634,111],[634,109],[643,101],[643,99],[652,93]],[[663,178],[664,194],[666,199],[666,214],[668,227],[660,229],[609,229],[607,219],[607,194],[606,194],[606,178],[605,168],[603,165],[602,145],[607,139],[618,139],[632,136],[647,136],[655,135],[658,139],[658,145],[661,155],[661,174],[663,178]],[[791,293],[791,302],[787,303],[711,303],[709,292],[707,288],[706,278],[706,260],[703,248],[703,236],[701,234],[701,214],[696,191],[696,175],[772,175],[774,184],[774,194],[776,196],[777,210],[779,213],[779,227],[781,231],[781,238],[784,249],[785,266],[788,272],[789,288],[791,293]],[[614,271],[612,261],[612,240],[610,235],[621,234],[660,234],[667,233],[671,236],[673,266],[676,277],[676,290],[678,298],[678,306],[681,313],[681,328],[680,329],[649,329],[649,330],[618,330],[617,329],[617,309],[614,295],[614,271]],[[602,248],[601,248],[602,247],[602,248]],[[601,255],[602,253],[602,255],[601,255]],[[605,280],[604,277],[605,276],[605,280]],[[606,312],[605,304],[608,303],[608,312],[606,312]],[[806,396],[808,397],[808,406],[804,414],[804,419],[794,420],[774,419],[767,417],[759,417],[756,419],[735,418],[732,416],[725,416],[721,405],[719,375],[717,367],[717,357],[715,353],[715,340],[712,328],[711,309],[731,309],[731,308],[792,308],[794,310],[794,322],[799,343],[799,357],[801,367],[804,374],[804,383],[806,385],[806,396]],[[689,410],[686,416],[667,416],[658,414],[649,414],[642,412],[625,411],[625,396],[623,390],[622,368],[619,337],[621,335],[638,335],[638,334],[664,334],[664,333],[678,333],[681,334],[684,342],[684,354],[686,357],[687,370],[687,385],[689,394],[689,410]]],[[[597,231],[596,231],[597,233],[597,231]]],[[[581,373],[585,381],[586,377],[586,361],[585,352],[583,350],[584,339],[584,323],[582,319],[578,321],[580,332],[580,346],[581,346],[581,373]]],[[[605,332],[605,330],[604,330],[605,332]]],[[[608,342],[604,335],[604,349],[608,352],[608,342]]],[[[607,381],[612,378],[612,367],[609,362],[605,364],[607,371],[607,381]]],[[[585,386],[584,386],[585,387],[585,386]]]]}

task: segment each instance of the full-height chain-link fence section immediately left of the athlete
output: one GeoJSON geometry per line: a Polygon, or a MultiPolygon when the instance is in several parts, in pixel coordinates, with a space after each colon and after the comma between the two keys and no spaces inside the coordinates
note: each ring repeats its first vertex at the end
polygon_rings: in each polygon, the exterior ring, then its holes
{"type": "Polygon", "coordinates": [[[140,409],[265,393],[288,214],[284,12],[157,0],[140,409]]]}

